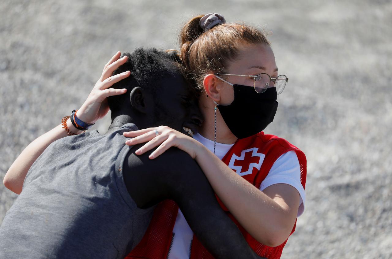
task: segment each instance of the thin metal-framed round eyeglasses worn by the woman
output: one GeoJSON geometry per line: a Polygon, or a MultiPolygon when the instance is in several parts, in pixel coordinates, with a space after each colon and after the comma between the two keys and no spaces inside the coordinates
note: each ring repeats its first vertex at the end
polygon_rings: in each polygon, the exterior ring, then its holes
{"type": "MultiPolygon", "coordinates": [[[[221,74],[216,73],[216,75],[225,75],[225,76],[245,76],[245,75],[234,75],[234,74],[221,74]]],[[[261,73],[256,76],[246,76],[253,78],[254,80],[254,90],[259,94],[265,92],[270,87],[276,88],[276,92],[281,94],[285,89],[287,82],[289,82],[289,78],[285,75],[280,75],[277,77],[270,77],[269,74],[261,73]]]]}

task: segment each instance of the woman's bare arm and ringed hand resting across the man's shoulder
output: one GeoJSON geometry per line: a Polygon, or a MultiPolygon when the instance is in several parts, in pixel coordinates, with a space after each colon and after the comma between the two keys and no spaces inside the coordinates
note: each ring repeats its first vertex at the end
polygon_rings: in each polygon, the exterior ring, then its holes
{"type": "Polygon", "coordinates": [[[260,191],[236,174],[200,142],[169,127],[132,131],[124,133],[124,136],[133,137],[127,140],[128,145],[149,141],[136,151],[137,155],[159,146],[149,156],[151,159],[171,146],[187,152],[198,162],[227,209],[260,243],[278,246],[289,237],[299,204],[299,193],[291,185],[279,183],[260,191]],[[155,135],[155,129],[160,135],[155,135]]]}

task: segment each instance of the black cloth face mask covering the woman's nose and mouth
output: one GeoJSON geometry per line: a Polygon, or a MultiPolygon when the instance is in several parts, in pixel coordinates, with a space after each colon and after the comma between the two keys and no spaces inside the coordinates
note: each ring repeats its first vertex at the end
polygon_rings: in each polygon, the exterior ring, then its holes
{"type": "Polygon", "coordinates": [[[250,86],[233,87],[234,101],[227,106],[218,105],[230,131],[237,138],[247,138],[264,130],[274,120],[278,109],[276,88],[268,88],[259,94],[250,86]]]}

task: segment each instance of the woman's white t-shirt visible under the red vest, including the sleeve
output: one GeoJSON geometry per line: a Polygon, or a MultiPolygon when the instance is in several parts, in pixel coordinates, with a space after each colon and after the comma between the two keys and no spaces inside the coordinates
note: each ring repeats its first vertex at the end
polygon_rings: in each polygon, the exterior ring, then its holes
{"type": "MultiPolygon", "coordinates": [[[[214,150],[214,141],[209,140],[200,134],[195,134],[193,138],[207,147],[211,152],[214,150]]],[[[215,155],[222,159],[233,145],[234,144],[216,143],[215,155]]],[[[301,184],[301,171],[295,151],[289,151],[279,156],[272,165],[267,177],[263,180],[263,182],[261,182],[260,190],[263,191],[265,188],[276,183],[286,183],[297,189],[300,196],[297,217],[301,216],[305,208],[305,190],[301,184]]],[[[178,210],[173,232],[173,243],[168,258],[189,258],[193,232],[185,220],[181,210],[178,210]]]]}

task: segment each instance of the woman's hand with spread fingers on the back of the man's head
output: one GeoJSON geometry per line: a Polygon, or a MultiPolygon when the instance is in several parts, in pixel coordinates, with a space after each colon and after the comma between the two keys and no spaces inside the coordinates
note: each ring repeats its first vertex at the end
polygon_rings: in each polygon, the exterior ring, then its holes
{"type": "Polygon", "coordinates": [[[106,63],[105,67],[103,67],[102,76],[95,84],[82,107],[78,110],[77,115],[80,120],[93,124],[99,119],[102,119],[109,111],[109,105],[107,104],[106,97],[111,95],[120,95],[127,92],[127,89],[109,88],[118,81],[129,77],[131,74],[130,71],[126,71],[121,74],[111,76],[114,70],[128,60],[127,56],[120,58],[120,55],[120,51],[117,52],[116,55],[114,55],[113,58],[106,63]]]}

